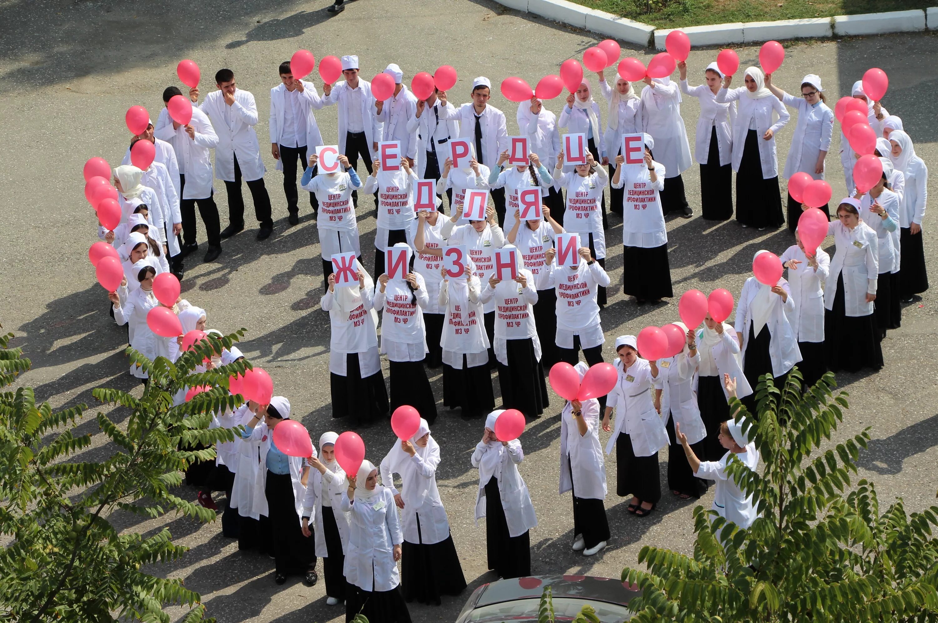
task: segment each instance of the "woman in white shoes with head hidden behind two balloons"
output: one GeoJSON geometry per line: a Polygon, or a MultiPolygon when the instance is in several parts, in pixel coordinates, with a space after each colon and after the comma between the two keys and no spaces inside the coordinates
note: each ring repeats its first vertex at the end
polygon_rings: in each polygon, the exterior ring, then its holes
{"type": "MultiPolygon", "coordinates": [[[[576,366],[582,381],[589,370],[576,366]]],[[[560,494],[573,497],[573,551],[596,555],[610,539],[606,518],[606,462],[599,443],[599,401],[567,401],[560,413],[560,494]]]]}

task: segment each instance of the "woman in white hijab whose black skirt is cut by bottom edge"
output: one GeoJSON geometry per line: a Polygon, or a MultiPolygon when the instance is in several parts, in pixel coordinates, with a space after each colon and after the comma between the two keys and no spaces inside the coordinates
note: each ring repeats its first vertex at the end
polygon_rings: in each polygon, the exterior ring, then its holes
{"type": "Polygon", "coordinates": [[[394,495],[378,484],[378,469],[368,460],[348,480],[339,507],[349,514],[350,527],[345,622],[352,623],[361,614],[370,623],[410,623],[397,565],[404,539],[394,495]]]}

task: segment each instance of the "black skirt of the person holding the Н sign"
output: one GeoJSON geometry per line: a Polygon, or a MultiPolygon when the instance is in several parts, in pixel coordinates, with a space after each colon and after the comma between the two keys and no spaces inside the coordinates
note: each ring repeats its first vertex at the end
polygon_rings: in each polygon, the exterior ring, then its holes
{"type": "Polygon", "coordinates": [[[506,340],[508,365],[498,364],[502,408],[518,409],[525,418],[537,418],[550,404],[544,368],[534,352],[531,338],[506,340]]]}

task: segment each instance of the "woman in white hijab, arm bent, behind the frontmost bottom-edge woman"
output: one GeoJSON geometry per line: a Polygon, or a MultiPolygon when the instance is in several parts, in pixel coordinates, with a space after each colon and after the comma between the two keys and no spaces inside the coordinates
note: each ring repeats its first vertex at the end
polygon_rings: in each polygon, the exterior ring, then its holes
{"type": "Polygon", "coordinates": [[[397,440],[381,462],[381,481],[401,509],[401,585],[408,602],[440,605],[440,595],[459,595],[466,587],[436,487],[439,464],[440,445],[424,418],[414,436],[397,440]],[[402,493],[394,486],[393,474],[401,476],[402,493]]]}

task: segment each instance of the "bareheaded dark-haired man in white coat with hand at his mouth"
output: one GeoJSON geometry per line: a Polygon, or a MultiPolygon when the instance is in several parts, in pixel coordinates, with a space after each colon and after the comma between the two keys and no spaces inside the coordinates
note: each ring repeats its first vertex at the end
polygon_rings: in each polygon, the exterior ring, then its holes
{"type": "MultiPolygon", "coordinates": [[[[266,169],[261,160],[261,146],[254,131],[258,120],[257,104],[250,91],[243,91],[234,84],[231,69],[219,69],[215,85],[219,90],[205,96],[200,108],[219,135],[219,144],[215,147],[215,178],[222,180],[228,190],[228,226],[221,230],[221,237],[234,236],[244,229],[243,176],[254,200],[254,215],[261,223],[257,239],[264,240],[273,231],[274,221],[270,218],[270,196],[264,185],[266,169]]],[[[189,89],[189,96],[193,94],[199,99],[198,88],[189,89]]]]}

